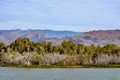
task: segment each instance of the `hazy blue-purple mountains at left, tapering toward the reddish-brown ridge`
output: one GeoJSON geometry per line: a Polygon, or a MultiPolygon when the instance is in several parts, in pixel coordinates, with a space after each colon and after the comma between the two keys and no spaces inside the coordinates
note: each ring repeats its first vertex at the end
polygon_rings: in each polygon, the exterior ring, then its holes
{"type": "Polygon", "coordinates": [[[31,41],[40,42],[48,38],[64,38],[67,36],[74,36],[80,32],[72,31],[53,31],[53,30],[0,30],[0,42],[6,44],[12,43],[19,37],[27,37],[31,41]]]}

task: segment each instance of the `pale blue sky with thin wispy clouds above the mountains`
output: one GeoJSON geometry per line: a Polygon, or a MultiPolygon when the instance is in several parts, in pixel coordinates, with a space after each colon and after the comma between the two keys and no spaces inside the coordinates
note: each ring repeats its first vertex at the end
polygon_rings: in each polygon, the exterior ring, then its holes
{"type": "Polygon", "coordinates": [[[0,0],[0,30],[120,29],[120,0],[0,0]]]}

